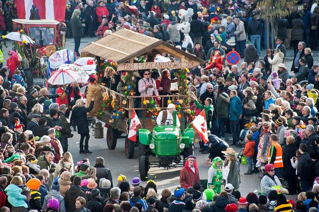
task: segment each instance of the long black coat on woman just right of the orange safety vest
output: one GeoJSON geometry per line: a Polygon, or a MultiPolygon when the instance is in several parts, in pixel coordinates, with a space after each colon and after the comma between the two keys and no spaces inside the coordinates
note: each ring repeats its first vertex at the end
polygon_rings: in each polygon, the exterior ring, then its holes
{"type": "Polygon", "coordinates": [[[293,144],[283,145],[283,163],[284,168],[282,170],[282,175],[285,179],[295,178],[296,169],[291,165],[290,159],[296,156],[297,147],[293,144]]]}

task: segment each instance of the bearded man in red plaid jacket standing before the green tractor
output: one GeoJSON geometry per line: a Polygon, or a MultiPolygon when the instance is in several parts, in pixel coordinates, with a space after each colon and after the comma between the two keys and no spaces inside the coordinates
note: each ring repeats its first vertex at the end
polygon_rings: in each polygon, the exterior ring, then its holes
{"type": "Polygon", "coordinates": [[[200,184],[196,157],[194,155],[189,155],[186,158],[185,166],[179,173],[179,182],[180,186],[186,190],[188,187],[193,187],[195,183],[200,184]]]}

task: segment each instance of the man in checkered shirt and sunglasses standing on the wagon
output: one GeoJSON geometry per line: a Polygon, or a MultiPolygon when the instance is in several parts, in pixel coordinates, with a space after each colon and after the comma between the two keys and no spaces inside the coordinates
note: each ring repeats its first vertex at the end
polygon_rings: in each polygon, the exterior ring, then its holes
{"type": "Polygon", "coordinates": [[[155,80],[151,78],[151,72],[145,70],[144,78],[139,81],[139,92],[141,96],[158,96],[159,92],[156,88],[155,80]]]}

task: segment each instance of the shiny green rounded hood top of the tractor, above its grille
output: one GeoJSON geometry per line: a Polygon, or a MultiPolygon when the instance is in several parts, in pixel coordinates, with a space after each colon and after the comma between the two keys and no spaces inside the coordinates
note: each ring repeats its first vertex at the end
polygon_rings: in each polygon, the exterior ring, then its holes
{"type": "Polygon", "coordinates": [[[156,139],[176,139],[180,136],[180,129],[176,126],[161,125],[154,127],[152,134],[156,139]]]}

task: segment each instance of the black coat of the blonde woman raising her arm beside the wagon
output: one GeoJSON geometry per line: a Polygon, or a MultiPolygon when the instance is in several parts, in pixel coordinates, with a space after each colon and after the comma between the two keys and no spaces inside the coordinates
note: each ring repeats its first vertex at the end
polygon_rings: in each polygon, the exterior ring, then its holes
{"type": "Polygon", "coordinates": [[[74,120],[76,121],[76,124],[78,126],[78,133],[79,134],[85,134],[89,133],[89,126],[88,126],[88,120],[87,120],[87,112],[90,112],[93,109],[94,102],[91,101],[89,107],[79,106],[74,107],[74,120]]]}

